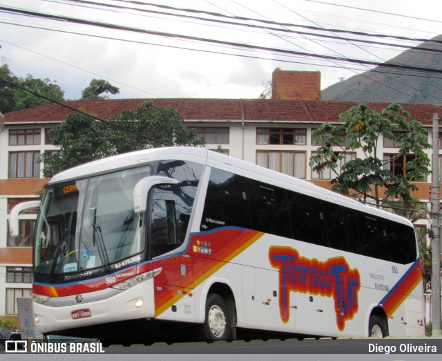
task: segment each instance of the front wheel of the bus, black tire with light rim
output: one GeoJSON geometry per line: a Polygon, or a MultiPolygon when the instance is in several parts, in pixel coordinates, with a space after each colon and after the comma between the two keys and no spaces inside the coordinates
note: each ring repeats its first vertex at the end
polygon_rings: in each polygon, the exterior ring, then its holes
{"type": "Polygon", "coordinates": [[[206,341],[229,340],[231,334],[229,311],[220,295],[211,293],[207,297],[205,318],[203,334],[206,341]]]}

